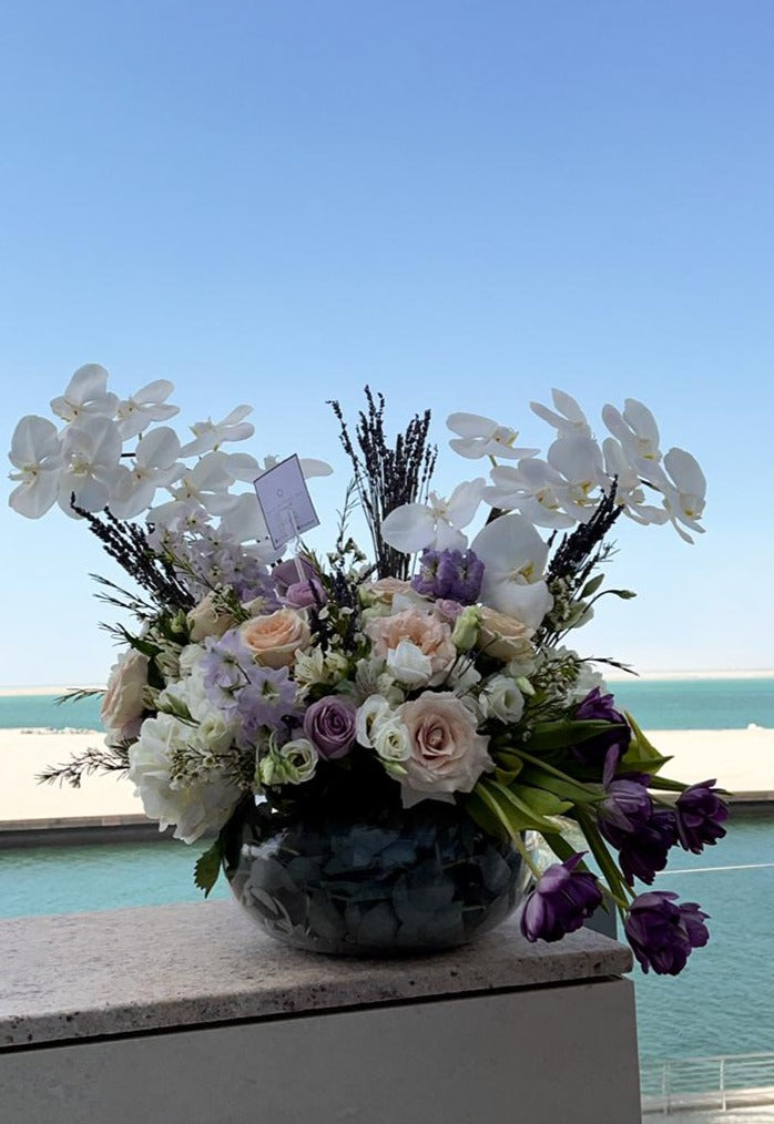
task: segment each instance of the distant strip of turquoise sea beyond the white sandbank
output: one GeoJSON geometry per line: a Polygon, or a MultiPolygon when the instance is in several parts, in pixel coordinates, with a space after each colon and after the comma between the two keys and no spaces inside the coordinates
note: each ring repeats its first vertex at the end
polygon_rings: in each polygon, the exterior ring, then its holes
{"type": "MultiPolygon", "coordinates": [[[[774,679],[627,679],[610,687],[645,729],[774,728],[774,679]]],[[[56,704],[55,695],[0,698],[0,729],[101,729],[99,698],[56,704]]]]}

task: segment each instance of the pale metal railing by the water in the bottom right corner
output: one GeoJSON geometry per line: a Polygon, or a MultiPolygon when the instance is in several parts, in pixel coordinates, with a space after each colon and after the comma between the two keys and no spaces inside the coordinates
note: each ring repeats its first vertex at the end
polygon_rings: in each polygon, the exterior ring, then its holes
{"type": "Polygon", "coordinates": [[[774,1053],[646,1061],[640,1066],[640,1090],[644,1115],[774,1104],[774,1053]]]}

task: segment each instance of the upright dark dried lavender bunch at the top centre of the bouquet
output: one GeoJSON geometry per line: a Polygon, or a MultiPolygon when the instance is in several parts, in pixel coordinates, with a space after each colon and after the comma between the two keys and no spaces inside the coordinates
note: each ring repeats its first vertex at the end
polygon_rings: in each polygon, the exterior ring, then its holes
{"type": "Polygon", "coordinates": [[[396,507],[421,502],[430,483],[438,448],[428,444],[430,410],[415,415],[398,434],[393,448],[385,434],[385,398],[374,398],[364,388],[367,410],[360,411],[356,428],[359,452],[350,437],[338,401],[330,401],[340,425],[340,438],[354,472],[358,498],[374,543],[377,573],[380,578],[408,578],[410,559],[388,546],[381,537],[381,524],[396,507]]]}

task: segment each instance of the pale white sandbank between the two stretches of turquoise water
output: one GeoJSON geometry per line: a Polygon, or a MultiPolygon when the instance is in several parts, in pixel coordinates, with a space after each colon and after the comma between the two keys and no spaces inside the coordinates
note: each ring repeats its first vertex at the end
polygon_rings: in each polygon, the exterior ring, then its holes
{"type": "MultiPolygon", "coordinates": [[[[142,815],[134,786],[116,777],[88,777],[80,789],[38,785],[46,765],[100,744],[98,733],[0,729],[0,823],[142,815]]],[[[717,778],[730,792],[774,798],[774,729],[659,729],[652,744],[673,760],[664,773],[686,785],[717,778]]]]}

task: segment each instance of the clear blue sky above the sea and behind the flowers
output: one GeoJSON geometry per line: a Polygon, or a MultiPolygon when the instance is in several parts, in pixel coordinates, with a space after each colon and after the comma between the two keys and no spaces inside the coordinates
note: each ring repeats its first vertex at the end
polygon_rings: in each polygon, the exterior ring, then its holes
{"type": "MultiPolygon", "coordinates": [[[[326,398],[403,423],[646,401],[708,533],[627,527],[587,653],[774,667],[774,7],[10,0],[0,84],[0,426],[72,371],[255,406],[249,445],[334,461],[326,398]]],[[[600,425],[600,429],[602,429],[600,425]]],[[[439,483],[461,479],[449,451],[439,483]]],[[[4,506],[0,685],[104,680],[81,525],[4,506]]]]}

